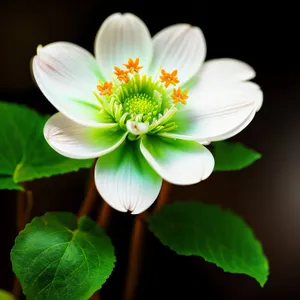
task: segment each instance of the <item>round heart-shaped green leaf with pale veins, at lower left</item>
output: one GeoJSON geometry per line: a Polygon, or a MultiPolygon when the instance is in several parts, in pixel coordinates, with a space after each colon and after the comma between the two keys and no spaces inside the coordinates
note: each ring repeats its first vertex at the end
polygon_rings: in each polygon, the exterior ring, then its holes
{"type": "Polygon", "coordinates": [[[11,251],[13,271],[27,299],[89,299],[110,276],[114,248],[103,229],[68,212],[26,225],[11,251]]]}

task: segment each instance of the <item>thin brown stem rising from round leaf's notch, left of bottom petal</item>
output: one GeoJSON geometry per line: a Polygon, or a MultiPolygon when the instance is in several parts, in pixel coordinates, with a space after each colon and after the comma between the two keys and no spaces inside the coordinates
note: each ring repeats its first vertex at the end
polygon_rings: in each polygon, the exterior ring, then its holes
{"type": "Polygon", "coordinates": [[[95,177],[94,177],[95,164],[96,164],[96,159],[94,160],[93,166],[91,168],[87,193],[86,193],[85,198],[79,209],[79,212],[77,215],[78,219],[90,214],[93,206],[95,205],[96,199],[97,199],[98,193],[97,193],[97,189],[96,189],[96,185],[95,185],[95,177]]]}

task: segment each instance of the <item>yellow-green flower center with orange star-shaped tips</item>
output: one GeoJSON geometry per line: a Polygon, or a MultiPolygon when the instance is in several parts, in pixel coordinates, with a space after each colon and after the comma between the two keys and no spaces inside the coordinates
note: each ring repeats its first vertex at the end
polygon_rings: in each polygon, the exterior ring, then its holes
{"type": "Polygon", "coordinates": [[[177,70],[167,73],[161,70],[159,79],[140,75],[139,59],[128,60],[127,70],[115,67],[117,80],[100,82],[96,97],[102,105],[100,113],[109,122],[117,122],[128,138],[136,140],[143,134],[174,130],[177,125],[172,121],[176,104],[186,103],[187,89],[172,88],[177,85],[177,70]],[[168,87],[171,88],[168,88],[168,87]]]}

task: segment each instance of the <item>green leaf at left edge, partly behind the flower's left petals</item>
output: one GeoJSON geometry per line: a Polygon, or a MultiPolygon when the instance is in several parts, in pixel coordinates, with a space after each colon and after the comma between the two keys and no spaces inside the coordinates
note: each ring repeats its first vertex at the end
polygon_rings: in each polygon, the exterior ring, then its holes
{"type": "Polygon", "coordinates": [[[0,189],[20,189],[19,182],[91,167],[92,160],[66,158],[48,145],[47,119],[26,106],[0,102],[0,189]]]}

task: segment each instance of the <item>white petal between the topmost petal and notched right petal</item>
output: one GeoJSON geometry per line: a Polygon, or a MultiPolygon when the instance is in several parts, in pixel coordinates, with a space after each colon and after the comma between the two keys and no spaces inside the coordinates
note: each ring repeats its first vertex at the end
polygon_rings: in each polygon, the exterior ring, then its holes
{"type": "Polygon", "coordinates": [[[206,43],[200,28],[177,24],[153,37],[152,73],[160,67],[166,72],[178,70],[180,84],[187,82],[200,69],[206,56],[206,43]]]}

